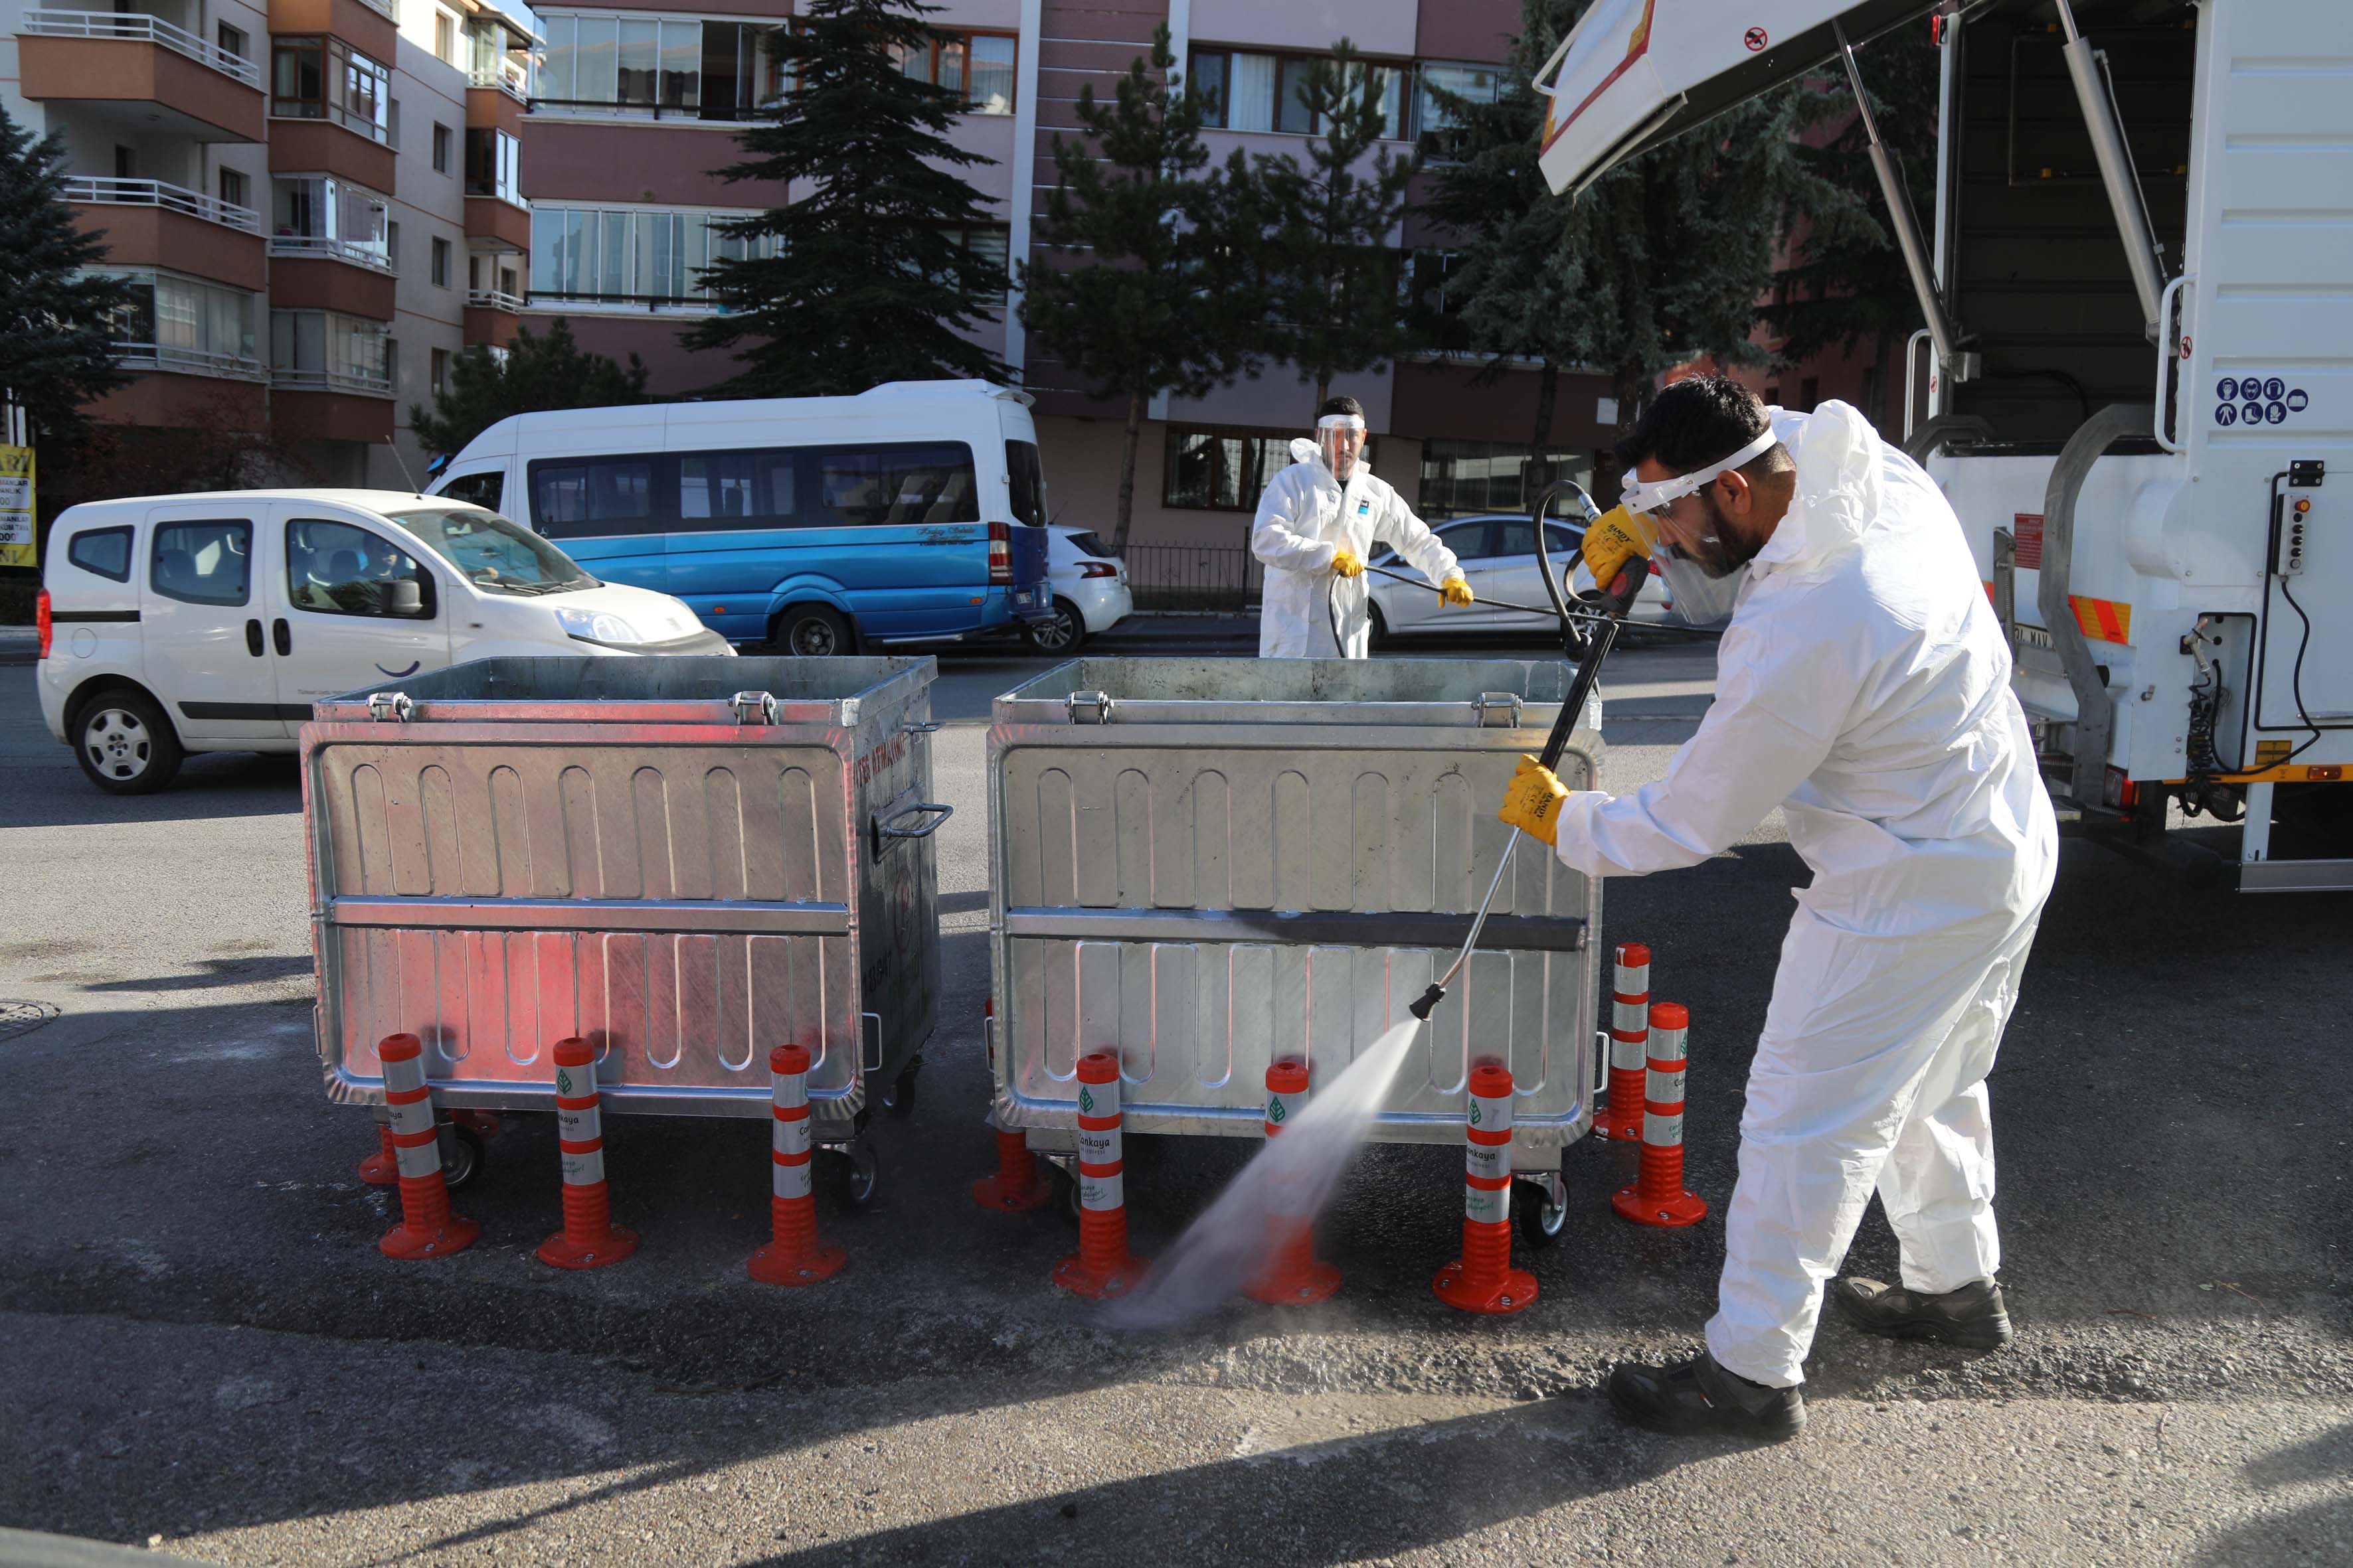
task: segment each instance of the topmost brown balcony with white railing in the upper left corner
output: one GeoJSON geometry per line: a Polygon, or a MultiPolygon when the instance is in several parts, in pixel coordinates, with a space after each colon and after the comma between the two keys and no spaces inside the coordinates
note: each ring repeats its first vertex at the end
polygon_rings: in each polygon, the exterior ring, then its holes
{"type": "Polygon", "coordinates": [[[26,99],[193,141],[264,139],[261,66],[160,16],[28,9],[16,61],[26,99]]]}

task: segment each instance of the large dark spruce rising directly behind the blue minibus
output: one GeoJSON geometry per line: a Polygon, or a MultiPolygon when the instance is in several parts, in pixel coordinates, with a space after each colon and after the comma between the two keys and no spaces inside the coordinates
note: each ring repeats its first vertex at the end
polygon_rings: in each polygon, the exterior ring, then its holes
{"type": "Polygon", "coordinates": [[[741,136],[729,181],[805,190],[725,233],[765,254],[715,261],[722,315],[687,348],[734,348],[739,397],[864,393],[880,381],[981,376],[1005,367],[967,334],[1005,301],[1005,268],[958,233],[991,212],[958,169],[991,162],[946,132],[962,94],[899,68],[929,49],[918,0],[809,0],[776,35],[784,101],[741,136]]]}

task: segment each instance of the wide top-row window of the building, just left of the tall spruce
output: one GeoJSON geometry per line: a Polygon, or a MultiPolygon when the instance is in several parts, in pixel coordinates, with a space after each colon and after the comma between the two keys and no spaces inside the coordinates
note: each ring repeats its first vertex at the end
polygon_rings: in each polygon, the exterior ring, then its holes
{"type": "Polygon", "coordinates": [[[548,12],[541,24],[534,110],[746,120],[784,96],[772,24],[548,12]]]}

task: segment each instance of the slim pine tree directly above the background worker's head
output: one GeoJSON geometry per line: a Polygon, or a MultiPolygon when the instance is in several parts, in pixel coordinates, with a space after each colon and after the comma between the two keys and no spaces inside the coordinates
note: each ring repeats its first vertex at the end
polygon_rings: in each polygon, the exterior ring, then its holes
{"type": "Polygon", "coordinates": [[[1306,167],[1285,153],[1259,169],[1280,214],[1273,346],[1315,383],[1320,407],[1332,376],[1379,369],[1414,341],[1388,235],[1417,165],[1384,146],[1379,78],[1346,38],[1301,73],[1299,103],[1318,127],[1306,167]]]}

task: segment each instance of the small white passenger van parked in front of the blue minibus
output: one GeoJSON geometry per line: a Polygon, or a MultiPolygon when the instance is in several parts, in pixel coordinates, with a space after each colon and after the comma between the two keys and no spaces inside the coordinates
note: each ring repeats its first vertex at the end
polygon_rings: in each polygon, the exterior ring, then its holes
{"type": "Polygon", "coordinates": [[[499,654],[732,654],[668,595],[600,583],[496,512],[376,489],[66,508],[40,717],[113,795],[186,752],[292,752],[311,703],[499,654]]]}

